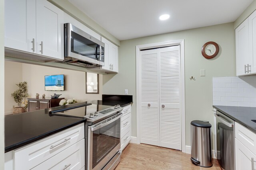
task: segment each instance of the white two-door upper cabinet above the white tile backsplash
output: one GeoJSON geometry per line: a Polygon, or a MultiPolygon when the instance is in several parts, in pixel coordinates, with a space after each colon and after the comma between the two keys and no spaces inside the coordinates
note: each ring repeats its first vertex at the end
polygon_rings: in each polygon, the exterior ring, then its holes
{"type": "Polygon", "coordinates": [[[256,12],[236,28],[236,75],[256,74],[256,12]]]}

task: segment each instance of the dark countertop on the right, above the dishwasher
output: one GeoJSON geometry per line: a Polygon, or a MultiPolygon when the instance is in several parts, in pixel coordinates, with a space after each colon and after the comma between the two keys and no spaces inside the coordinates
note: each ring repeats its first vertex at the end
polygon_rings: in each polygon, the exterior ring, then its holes
{"type": "Polygon", "coordinates": [[[215,109],[256,133],[256,107],[213,106],[215,109]]]}

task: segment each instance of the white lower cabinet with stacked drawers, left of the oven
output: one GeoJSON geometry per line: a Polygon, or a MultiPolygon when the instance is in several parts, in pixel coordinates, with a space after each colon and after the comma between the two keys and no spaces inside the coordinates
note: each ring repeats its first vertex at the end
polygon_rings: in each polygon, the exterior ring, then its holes
{"type": "Polygon", "coordinates": [[[84,123],[5,154],[5,170],[81,169],[85,165],[84,123]],[[13,168],[12,168],[13,167],[13,168]]]}

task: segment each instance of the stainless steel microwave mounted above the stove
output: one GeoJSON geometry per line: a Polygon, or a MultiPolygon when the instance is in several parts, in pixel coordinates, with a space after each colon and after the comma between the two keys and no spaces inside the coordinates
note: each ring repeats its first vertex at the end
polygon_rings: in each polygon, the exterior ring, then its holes
{"type": "Polygon", "coordinates": [[[64,24],[64,61],[86,68],[104,66],[105,44],[71,23],[64,24]]]}

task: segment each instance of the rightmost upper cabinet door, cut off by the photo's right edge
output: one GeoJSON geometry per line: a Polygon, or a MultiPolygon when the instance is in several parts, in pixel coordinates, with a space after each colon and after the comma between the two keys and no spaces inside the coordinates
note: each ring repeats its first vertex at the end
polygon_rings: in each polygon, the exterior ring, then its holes
{"type": "Polygon", "coordinates": [[[249,73],[256,73],[256,12],[252,13],[248,18],[249,27],[249,57],[250,68],[249,73]]]}

